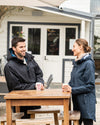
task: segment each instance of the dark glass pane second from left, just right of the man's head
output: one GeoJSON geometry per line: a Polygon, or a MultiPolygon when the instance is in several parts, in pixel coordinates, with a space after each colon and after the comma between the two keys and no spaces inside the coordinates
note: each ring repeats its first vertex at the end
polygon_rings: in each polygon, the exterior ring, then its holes
{"type": "Polygon", "coordinates": [[[28,29],[28,51],[32,54],[40,54],[40,32],[39,28],[28,29]]]}

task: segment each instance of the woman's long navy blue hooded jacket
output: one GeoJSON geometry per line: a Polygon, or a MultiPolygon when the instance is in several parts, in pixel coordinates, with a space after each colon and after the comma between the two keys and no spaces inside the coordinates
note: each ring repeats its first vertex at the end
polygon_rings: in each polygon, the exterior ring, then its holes
{"type": "Polygon", "coordinates": [[[95,120],[95,66],[90,54],[73,62],[69,85],[74,110],[80,110],[82,118],[95,120]]]}

